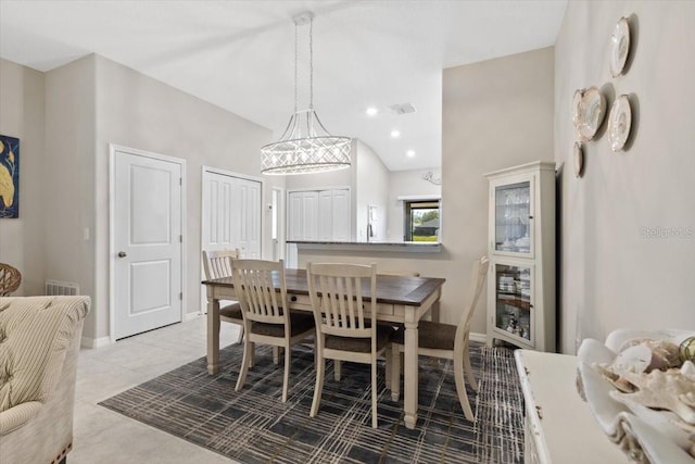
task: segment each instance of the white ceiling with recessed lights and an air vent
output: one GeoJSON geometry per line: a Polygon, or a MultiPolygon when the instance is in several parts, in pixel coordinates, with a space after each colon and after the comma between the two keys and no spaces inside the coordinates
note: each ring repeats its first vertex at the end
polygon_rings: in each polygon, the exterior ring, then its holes
{"type": "MultiPolygon", "coordinates": [[[[0,0],[0,57],[49,71],[88,53],[271,129],[294,108],[294,23],[314,18],[314,106],[392,171],[440,166],[442,70],[553,46],[567,0],[0,0]],[[412,103],[396,115],[389,106],[412,103]],[[379,110],[367,116],[365,110],[379,110]],[[390,136],[392,129],[401,137],[390,136]],[[415,150],[408,158],[405,152],[415,150]]],[[[299,28],[300,109],[308,29],[299,28]]],[[[1,77],[1,76],[0,76],[1,77]]]]}

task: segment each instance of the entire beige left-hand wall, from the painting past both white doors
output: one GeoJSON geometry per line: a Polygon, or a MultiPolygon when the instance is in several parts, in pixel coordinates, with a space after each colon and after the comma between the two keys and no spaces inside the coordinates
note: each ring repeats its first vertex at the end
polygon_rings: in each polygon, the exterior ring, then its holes
{"type": "MultiPolygon", "coordinates": [[[[46,74],[0,64],[0,131],[21,138],[22,156],[22,220],[0,222],[0,259],[22,263],[24,292],[41,293],[47,278],[77,283],[92,297],[84,338],[108,340],[109,143],[116,143],[187,161],[185,306],[198,312],[202,166],[262,178],[258,148],[270,131],[97,55],[46,74]]],[[[262,180],[264,203],[274,186],[285,187],[282,177],[262,180]]],[[[269,216],[262,220],[269,258],[269,216]]]]}

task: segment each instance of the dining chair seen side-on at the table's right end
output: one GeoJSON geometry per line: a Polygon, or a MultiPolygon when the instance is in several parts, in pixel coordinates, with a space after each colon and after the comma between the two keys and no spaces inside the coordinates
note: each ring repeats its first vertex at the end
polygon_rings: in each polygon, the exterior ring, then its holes
{"type": "MultiPolygon", "coordinates": [[[[473,262],[467,304],[457,326],[429,321],[420,321],[418,325],[418,354],[453,360],[458,401],[466,418],[470,422],[475,422],[476,418],[468,403],[464,372],[466,372],[470,386],[475,391],[478,391],[478,381],[470,365],[470,324],[488,275],[489,263],[488,256],[482,256],[473,262]]],[[[396,331],[392,340],[391,399],[397,401],[401,393],[401,353],[405,347],[403,330],[396,331]]],[[[417,378],[404,381],[417,381],[417,378]]]]}

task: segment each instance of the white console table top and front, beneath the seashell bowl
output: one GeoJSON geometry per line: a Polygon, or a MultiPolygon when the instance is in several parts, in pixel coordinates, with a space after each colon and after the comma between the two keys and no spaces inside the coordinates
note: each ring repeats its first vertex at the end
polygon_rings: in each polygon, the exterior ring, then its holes
{"type": "Polygon", "coordinates": [[[577,358],[517,350],[526,402],[525,463],[628,463],[577,392],[577,358]]]}

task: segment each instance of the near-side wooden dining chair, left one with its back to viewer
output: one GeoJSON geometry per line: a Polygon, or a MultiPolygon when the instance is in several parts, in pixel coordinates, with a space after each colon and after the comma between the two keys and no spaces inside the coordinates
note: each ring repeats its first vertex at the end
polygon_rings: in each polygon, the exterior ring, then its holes
{"type": "Polygon", "coordinates": [[[290,380],[291,347],[314,335],[314,316],[289,311],[282,260],[233,260],[231,269],[247,333],[236,390],[241,391],[247,380],[255,343],[270,344],[285,349],[285,403],[290,380]]]}

